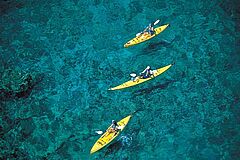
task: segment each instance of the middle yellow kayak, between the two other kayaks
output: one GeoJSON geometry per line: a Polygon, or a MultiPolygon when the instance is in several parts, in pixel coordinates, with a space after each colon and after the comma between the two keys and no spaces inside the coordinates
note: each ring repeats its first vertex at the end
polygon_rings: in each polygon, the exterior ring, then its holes
{"type": "Polygon", "coordinates": [[[113,87],[113,88],[110,88],[108,90],[118,90],[118,89],[123,89],[123,88],[128,88],[128,87],[132,87],[132,86],[135,86],[135,85],[138,85],[140,83],[143,83],[143,82],[146,82],[150,79],[153,79],[157,76],[159,76],[160,74],[162,74],[163,72],[165,72],[166,70],[168,70],[173,64],[170,64],[170,65],[167,65],[165,67],[162,67],[162,68],[159,68],[159,69],[156,69],[154,70],[154,73],[153,73],[153,76],[149,77],[149,78],[145,78],[145,79],[142,79],[142,78],[138,78],[138,80],[136,81],[127,81],[123,84],[120,84],[119,86],[116,86],[116,87],[113,87]]]}

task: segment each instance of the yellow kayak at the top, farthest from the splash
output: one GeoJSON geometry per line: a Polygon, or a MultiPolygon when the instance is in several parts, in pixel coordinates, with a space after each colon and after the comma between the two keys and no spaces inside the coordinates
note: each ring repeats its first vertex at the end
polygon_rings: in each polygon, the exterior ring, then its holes
{"type": "Polygon", "coordinates": [[[130,41],[128,41],[126,44],[124,44],[124,47],[127,48],[127,47],[130,47],[130,46],[134,46],[136,44],[139,44],[139,43],[142,43],[144,41],[147,41],[153,37],[155,37],[156,35],[160,34],[162,31],[164,31],[167,27],[168,27],[169,24],[165,24],[165,25],[162,25],[158,28],[155,28],[155,34],[153,34],[152,36],[148,33],[143,33],[141,34],[140,36],[137,36],[133,39],[131,39],[130,41]]]}

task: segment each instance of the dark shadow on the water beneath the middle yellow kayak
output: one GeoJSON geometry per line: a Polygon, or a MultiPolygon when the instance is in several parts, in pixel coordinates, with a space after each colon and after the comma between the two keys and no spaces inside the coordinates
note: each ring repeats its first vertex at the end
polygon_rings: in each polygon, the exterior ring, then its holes
{"type": "Polygon", "coordinates": [[[169,84],[174,83],[174,82],[176,82],[176,80],[167,80],[163,84],[158,84],[158,85],[152,86],[150,88],[143,88],[143,89],[137,90],[137,91],[133,92],[133,96],[136,97],[136,96],[141,96],[143,94],[149,94],[156,89],[165,89],[169,86],[169,84]]]}

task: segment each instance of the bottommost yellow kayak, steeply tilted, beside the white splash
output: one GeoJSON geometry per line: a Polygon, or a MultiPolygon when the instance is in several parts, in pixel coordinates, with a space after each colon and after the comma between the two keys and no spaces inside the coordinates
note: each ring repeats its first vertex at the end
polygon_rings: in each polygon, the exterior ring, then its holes
{"type": "Polygon", "coordinates": [[[110,126],[107,129],[107,131],[93,145],[93,147],[90,151],[90,154],[97,152],[98,150],[102,149],[104,146],[109,144],[112,140],[114,140],[114,138],[116,138],[122,132],[122,130],[125,128],[125,126],[128,124],[128,121],[130,120],[131,116],[132,115],[129,115],[129,116],[123,118],[122,120],[120,120],[119,122],[117,122],[117,124],[119,125],[119,128],[120,128],[119,131],[110,133],[109,131],[112,127],[112,126],[110,126]]]}

